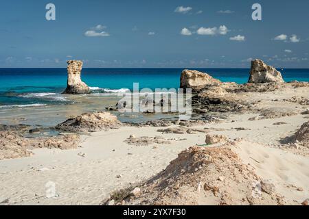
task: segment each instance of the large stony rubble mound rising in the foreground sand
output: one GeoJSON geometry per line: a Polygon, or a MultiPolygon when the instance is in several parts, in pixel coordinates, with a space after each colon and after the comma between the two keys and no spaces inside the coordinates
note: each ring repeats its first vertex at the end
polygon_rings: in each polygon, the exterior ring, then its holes
{"type": "Polygon", "coordinates": [[[261,180],[251,167],[242,164],[231,146],[190,147],[147,183],[137,185],[138,196],[130,195],[133,188],[128,188],[113,192],[103,204],[278,205],[279,198],[273,198],[278,194],[266,183],[268,193],[262,190],[256,198],[253,182],[261,180]]]}

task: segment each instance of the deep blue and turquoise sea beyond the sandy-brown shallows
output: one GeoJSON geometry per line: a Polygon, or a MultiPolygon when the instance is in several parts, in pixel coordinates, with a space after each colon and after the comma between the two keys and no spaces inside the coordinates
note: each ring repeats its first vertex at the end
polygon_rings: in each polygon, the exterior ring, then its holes
{"type": "MultiPolygon", "coordinates": [[[[82,80],[90,87],[117,90],[179,88],[181,68],[84,68],[82,80]]],[[[198,69],[221,81],[247,83],[249,69],[198,69]]],[[[309,81],[309,69],[279,69],[285,81],[309,81]]],[[[5,105],[65,103],[59,95],[67,83],[66,68],[0,68],[0,110],[5,105]]],[[[97,90],[98,92],[98,90],[97,90]]]]}

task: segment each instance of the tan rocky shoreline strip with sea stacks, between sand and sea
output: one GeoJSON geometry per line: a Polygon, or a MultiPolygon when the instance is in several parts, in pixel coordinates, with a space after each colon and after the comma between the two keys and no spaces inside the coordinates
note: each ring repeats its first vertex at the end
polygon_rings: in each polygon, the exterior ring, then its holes
{"type": "MultiPolygon", "coordinates": [[[[80,71],[82,70],[82,62],[71,60],[68,62],[68,88],[73,88],[73,92],[67,90],[67,94],[80,94],[89,92],[88,86],[81,81],[80,71]],[[79,91],[77,91],[77,90],[79,91]]],[[[228,118],[231,114],[244,114],[244,113],[258,113],[260,116],[249,118],[249,120],[262,120],[269,118],[281,118],[283,116],[293,116],[296,114],[309,114],[308,108],[309,97],[293,96],[290,99],[283,99],[290,103],[299,103],[303,105],[303,110],[295,109],[277,109],[276,107],[260,107],[261,99],[251,99],[251,96],[255,94],[264,94],[267,92],[284,92],[284,90],[308,88],[309,83],[293,81],[290,83],[284,83],[282,75],[275,70],[272,66],[267,66],[261,60],[253,60],[251,64],[251,71],[249,76],[249,83],[237,84],[232,82],[222,83],[218,79],[214,79],[207,73],[200,73],[196,70],[183,70],[181,74],[181,88],[191,88],[192,96],[192,119],[191,120],[150,120],[144,123],[120,123],[116,116],[108,112],[94,112],[84,113],[75,118],[69,118],[65,122],[56,125],[56,127],[50,127],[57,131],[85,133],[95,132],[109,129],[119,129],[122,126],[133,127],[170,127],[171,125],[178,125],[179,129],[171,129],[171,133],[190,133],[194,132],[189,127],[198,125],[207,125],[209,123],[220,123],[222,120],[228,118]],[[187,127],[185,129],[185,127],[187,127]]],[[[148,100],[148,102],[152,100],[148,100]]],[[[279,100],[272,100],[279,103],[279,100]]],[[[145,101],[144,101],[145,102],[145,101]]],[[[147,103],[148,103],[147,102],[147,103]]],[[[162,101],[161,101],[162,102],[162,101]]],[[[117,103],[116,107],[108,107],[107,111],[114,111],[121,107],[128,107],[125,103],[117,103]]],[[[154,103],[155,104],[155,103],[154,103]]],[[[161,103],[161,107],[163,107],[161,103]]],[[[163,129],[162,129],[163,130],[163,129]]],[[[27,125],[1,125],[1,149],[0,159],[13,158],[13,157],[25,157],[32,155],[31,152],[25,150],[30,148],[47,147],[47,148],[59,148],[70,149],[78,146],[78,140],[74,140],[73,144],[67,145],[67,136],[61,136],[60,142],[57,142],[57,137],[45,137],[45,138],[32,138],[28,139],[25,136],[26,133],[41,133],[44,129],[39,127],[36,129],[30,129],[27,125]],[[18,139],[16,142],[10,142],[12,139],[18,139]],[[31,143],[30,143],[31,140],[31,143]],[[43,143],[42,143],[43,141],[43,143]],[[47,144],[47,142],[49,142],[47,144]],[[11,146],[10,146],[11,145],[11,146]],[[24,146],[27,145],[27,146],[24,146]],[[50,146],[53,145],[53,146],[50,146]],[[8,149],[14,148],[16,153],[7,152],[8,149]],[[19,149],[20,147],[20,149],[19,149]],[[5,151],[3,153],[3,151],[5,151]],[[4,155],[3,155],[4,154],[4,155]],[[5,155],[7,154],[7,155],[5,155]]],[[[163,131],[164,132],[164,131],[163,131]]],[[[75,138],[75,137],[70,137],[75,138]]],[[[13,151],[14,151],[13,150],[13,151]]]]}

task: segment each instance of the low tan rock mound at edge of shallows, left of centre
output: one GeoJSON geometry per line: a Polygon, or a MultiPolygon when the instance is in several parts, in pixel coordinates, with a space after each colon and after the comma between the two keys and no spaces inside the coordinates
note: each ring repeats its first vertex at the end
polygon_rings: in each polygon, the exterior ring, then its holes
{"type": "Polygon", "coordinates": [[[84,113],[75,118],[69,118],[64,123],[56,126],[62,131],[101,131],[117,129],[121,123],[108,112],[84,113]]]}

